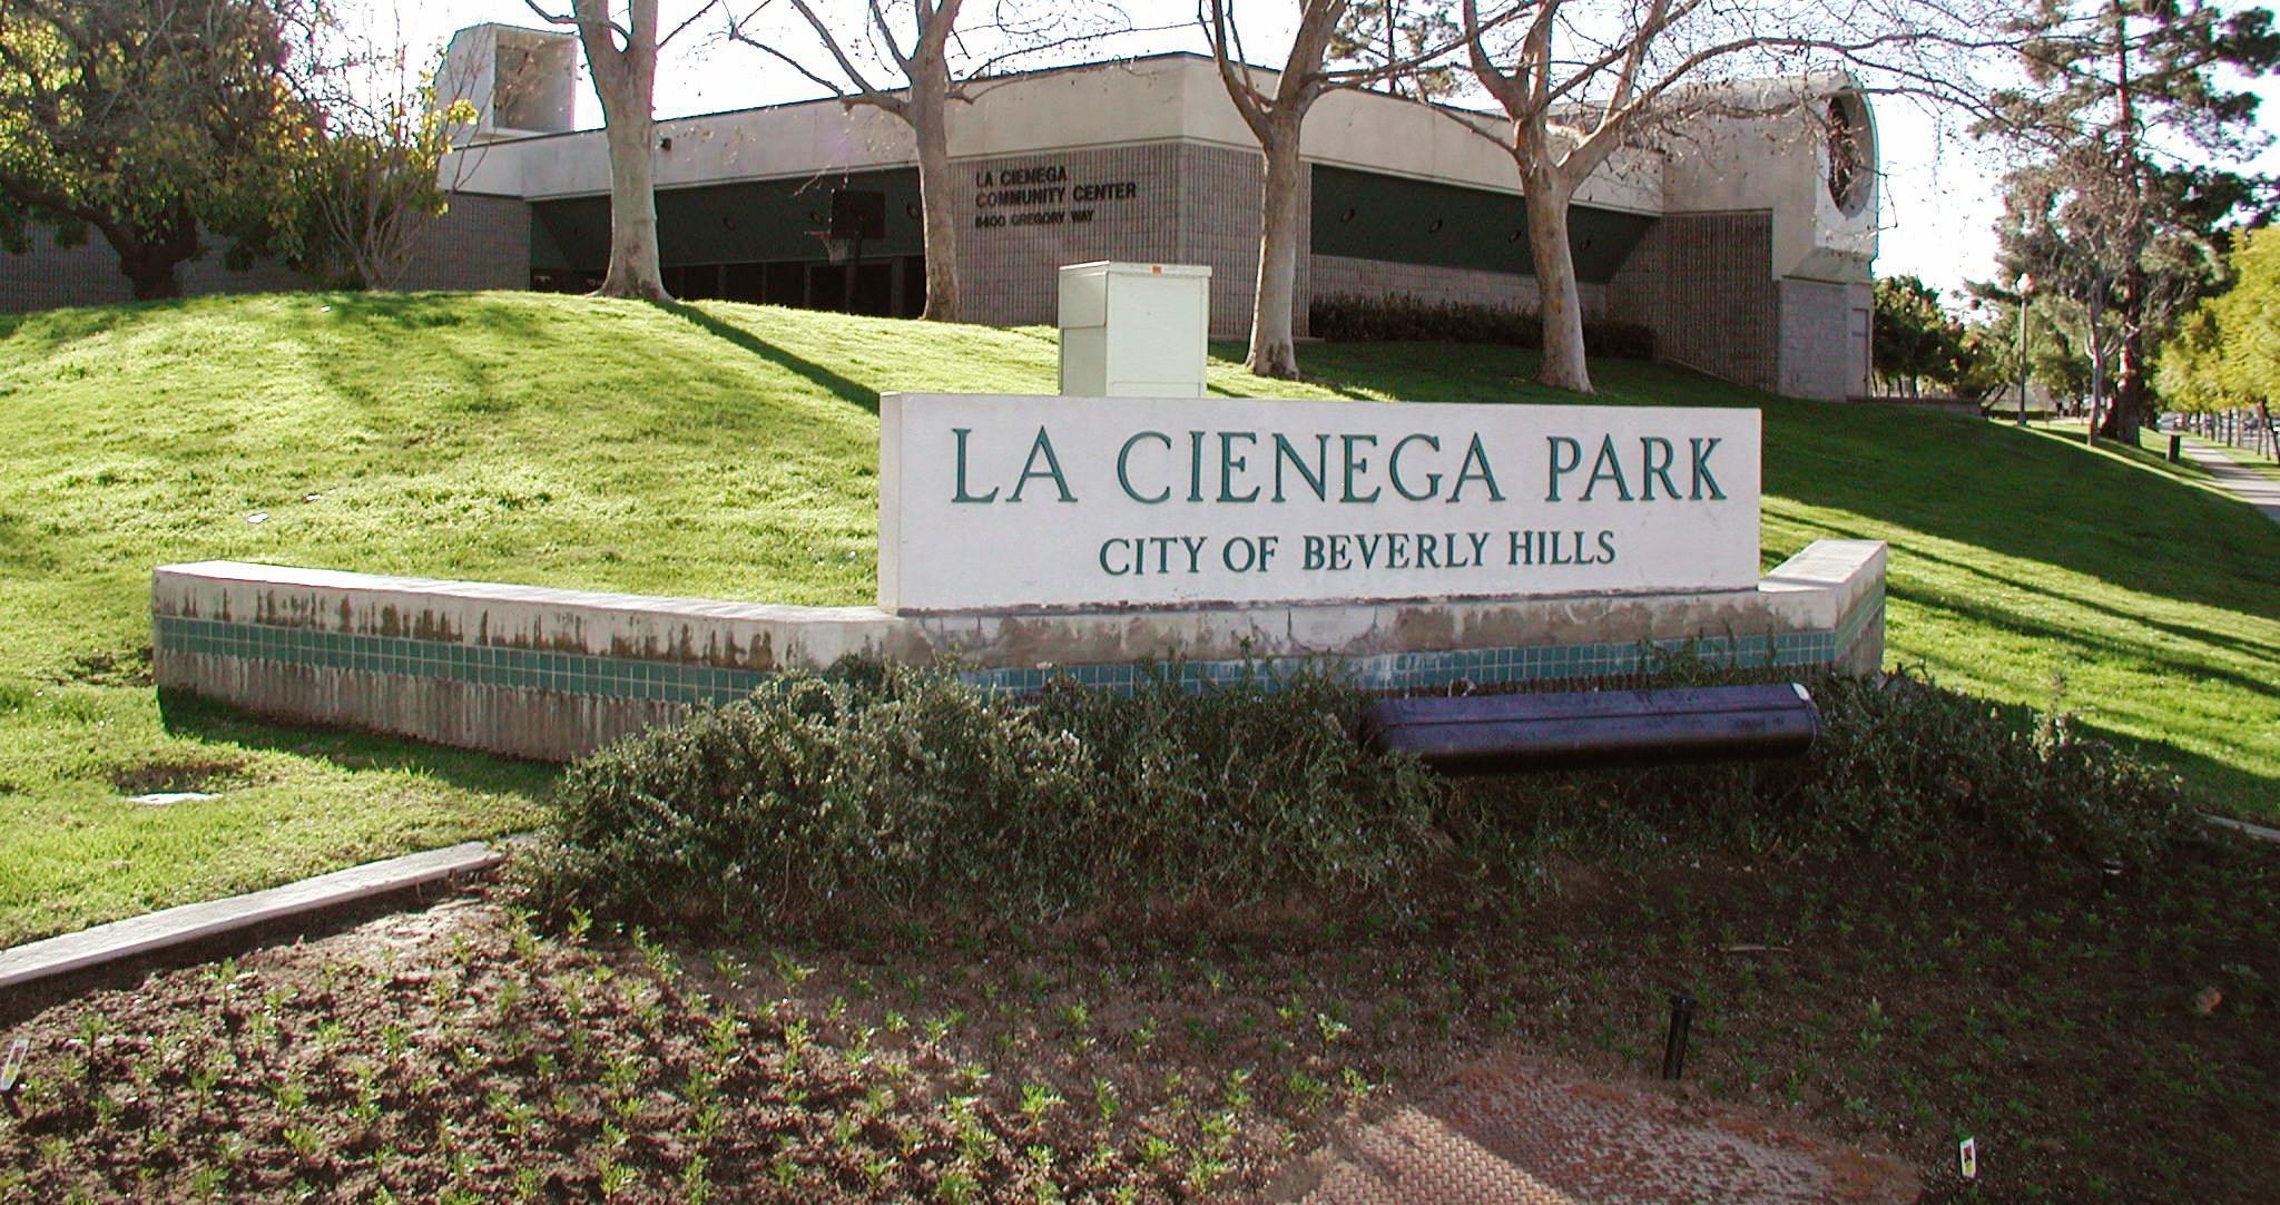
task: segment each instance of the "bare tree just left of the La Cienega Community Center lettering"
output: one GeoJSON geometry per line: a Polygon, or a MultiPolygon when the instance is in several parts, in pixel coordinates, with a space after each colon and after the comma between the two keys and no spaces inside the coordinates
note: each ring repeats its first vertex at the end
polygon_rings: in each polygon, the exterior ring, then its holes
{"type": "Polygon", "coordinates": [[[739,14],[727,9],[727,39],[762,50],[848,110],[869,105],[905,126],[919,151],[919,212],[926,228],[926,310],[935,322],[960,320],[958,219],[951,210],[951,103],[971,103],[978,80],[1012,62],[1056,48],[1131,32],[1122,11],[1099,5],[1021,5],[994,0],[985,21],[960,27],[964,0],[841,0],[823,11],[812,0],[789,0],[798,25],[821,46],[828,66],[787,52],[759,27],[773,0],[739,14]],[[969,37],[985,50],[969,52],[969,37]]]}

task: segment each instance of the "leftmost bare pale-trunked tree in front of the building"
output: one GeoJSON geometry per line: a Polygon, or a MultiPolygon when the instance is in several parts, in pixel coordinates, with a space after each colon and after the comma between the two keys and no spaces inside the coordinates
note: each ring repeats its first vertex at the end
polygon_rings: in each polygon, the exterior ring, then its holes
{"type": "Polygon", "coordinates": [[[698,23],[718,0],[705,0],[686,21],[659,37],[657,0],[625,0],[625,18],[611,16],[611,0],[570,0],[570,11],[547,11],[524,0],[549,25],[575,25],[593,71],[593,94],[602,100],[602,135],[609,139],[609,272],[600,297],[648,297],[670,301],[657,267],[657,52],[698,23]]]}

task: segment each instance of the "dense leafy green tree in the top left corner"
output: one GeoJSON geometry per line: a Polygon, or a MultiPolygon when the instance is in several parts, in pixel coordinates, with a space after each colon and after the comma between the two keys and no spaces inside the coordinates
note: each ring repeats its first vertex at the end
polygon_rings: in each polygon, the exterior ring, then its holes
{"type": "Polygon", "coordinates": [[[137,299],[178,294],[207,237],[233,267],[296,256],[312,21],[301,0],[0,0],[0,246],[98,233],[137,299]]]}

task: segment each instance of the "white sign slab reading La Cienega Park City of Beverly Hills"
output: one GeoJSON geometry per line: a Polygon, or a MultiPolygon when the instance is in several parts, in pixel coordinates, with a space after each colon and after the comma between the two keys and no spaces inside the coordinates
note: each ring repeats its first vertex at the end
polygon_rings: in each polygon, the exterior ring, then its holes
{"type": "Polygon", "coordinates": [[[1758,411],[889,393],[878,605],[1758,584],[1758,411]]]}

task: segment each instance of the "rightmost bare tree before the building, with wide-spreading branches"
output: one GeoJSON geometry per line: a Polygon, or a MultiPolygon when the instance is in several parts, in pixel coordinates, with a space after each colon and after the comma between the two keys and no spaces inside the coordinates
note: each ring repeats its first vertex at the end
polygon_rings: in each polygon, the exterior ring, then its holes
{"type": "Polygon", "coordinates": [[[1617,148],[1705,114],[1774,116],[1813,100],[1806,89],[1726,87],[1751,75],[1872,71],[1872,91],[1970,103],[1984,89],[1959,55],[2000,46],[1993,21],[1959,7],[1970,2],[1518,0],[1484,18],[1480,0],[1461,0],[1473,73],[1512,119],[1503,146],[1521,173],[1544,315],[1537,379],[1591,393],[1569,205],[1617,148]],[[1491,39],[1500,21],[1509,37],[1491,39]]]}

